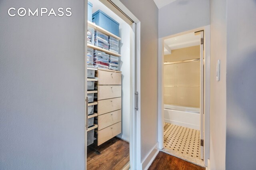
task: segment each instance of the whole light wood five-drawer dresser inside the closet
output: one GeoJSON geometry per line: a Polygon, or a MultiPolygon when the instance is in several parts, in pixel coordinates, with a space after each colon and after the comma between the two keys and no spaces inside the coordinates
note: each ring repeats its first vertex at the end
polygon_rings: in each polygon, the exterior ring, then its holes
{"type": "Polygon", "coordinates": [[[98,145],[121,133],[121,71],[98,69],[98,145]]]}

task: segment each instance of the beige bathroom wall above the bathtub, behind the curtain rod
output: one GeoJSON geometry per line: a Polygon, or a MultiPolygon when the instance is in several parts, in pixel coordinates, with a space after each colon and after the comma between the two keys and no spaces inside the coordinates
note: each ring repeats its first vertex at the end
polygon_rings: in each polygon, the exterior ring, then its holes
{"type": "MultiPolygon", "coordinates": [[[[197,45],[172,50],[172,54],[164,56],[164,61],[181,61],[199,57],[200,46],[197,45]]],[[[200,107],[200,61],[164,65],[164,104],[200,107]]]]}

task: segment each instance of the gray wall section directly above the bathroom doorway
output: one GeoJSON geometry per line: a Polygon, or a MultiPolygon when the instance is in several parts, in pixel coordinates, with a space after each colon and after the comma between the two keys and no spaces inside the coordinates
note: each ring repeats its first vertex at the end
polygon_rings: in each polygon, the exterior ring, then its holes
{"type": "Polygon", "coordinates": [[[176,0],[159,9],[158,37],[210,24],[210,0],[176,0]]]}

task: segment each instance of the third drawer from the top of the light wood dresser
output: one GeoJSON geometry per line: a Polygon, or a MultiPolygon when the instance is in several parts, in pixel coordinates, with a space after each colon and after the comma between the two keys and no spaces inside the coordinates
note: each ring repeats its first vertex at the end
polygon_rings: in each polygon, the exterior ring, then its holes
{"type": "Polygon", "coordinates": [[[121,109],[121,97],[98,101],[98,115],[121,109]]]}

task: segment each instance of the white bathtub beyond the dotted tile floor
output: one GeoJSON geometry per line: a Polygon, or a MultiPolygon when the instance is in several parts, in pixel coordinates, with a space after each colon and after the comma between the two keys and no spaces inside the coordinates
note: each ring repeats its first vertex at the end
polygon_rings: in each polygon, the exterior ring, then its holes
{"type": "Polygon", "coordinates": [[[164,105],[164,122],[200,130],[200,108],[164,105]]]}

